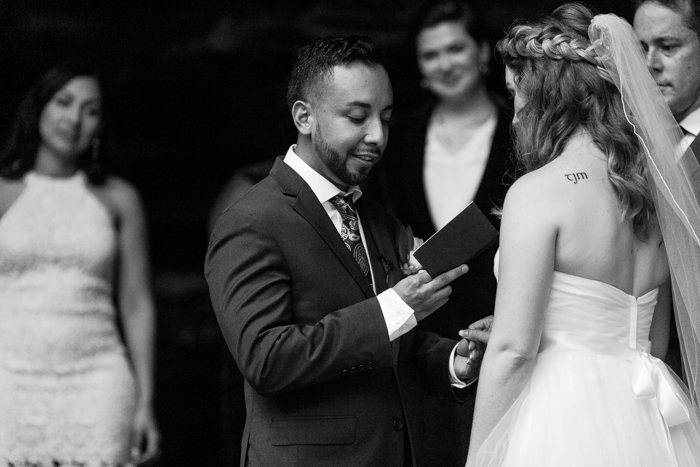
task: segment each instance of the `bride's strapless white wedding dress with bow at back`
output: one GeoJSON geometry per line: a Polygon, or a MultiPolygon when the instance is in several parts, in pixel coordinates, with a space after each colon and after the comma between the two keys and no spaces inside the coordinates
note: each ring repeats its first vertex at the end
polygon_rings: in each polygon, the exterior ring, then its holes
{"type": "Polygon", "coordinates": [[[477,465],[700,466],[698,413],[648,353],[657,295],[555,271],[530,381],[477,465]]]}

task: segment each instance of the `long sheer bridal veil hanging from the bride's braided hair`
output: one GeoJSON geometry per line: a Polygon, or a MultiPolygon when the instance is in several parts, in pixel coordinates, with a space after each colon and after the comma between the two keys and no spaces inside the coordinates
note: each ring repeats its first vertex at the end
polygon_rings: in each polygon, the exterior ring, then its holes
{"type": "Polygon", "coordinates": [[[668,255],[683,369],[694,404],[700,391],[700,164],[666,105],[632,27],[612,15],[593,18],[588,35],[622,94],[625,115],[645,151],[668,255]]]}

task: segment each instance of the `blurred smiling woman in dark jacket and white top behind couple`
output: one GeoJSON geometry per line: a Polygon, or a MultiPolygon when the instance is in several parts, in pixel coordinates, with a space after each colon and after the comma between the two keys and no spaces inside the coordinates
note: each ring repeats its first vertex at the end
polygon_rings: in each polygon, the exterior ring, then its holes
{"type": "MultiPolygon", "coordinates": [[[[427,4],[413,30],[421,87],[429,96],[398,119],[373,180],[375,196],[427,239],[471,201],[488,215],[500,206],[510,180],[511,111],[490,92],[486,76],[493,55],[485,21],[461,1],[427,4]]],[[[424,320],[425,326],[455,338],[460,329],[493,313],[496,247],[469,264],[452,284],[450,301],[424,320]]],[[[476,386],[476,385],[472,385],[476,386]]],[[[467,403],[428,398],[426,450],[430,465],[464,465],[475,398],[467,403]]]]}

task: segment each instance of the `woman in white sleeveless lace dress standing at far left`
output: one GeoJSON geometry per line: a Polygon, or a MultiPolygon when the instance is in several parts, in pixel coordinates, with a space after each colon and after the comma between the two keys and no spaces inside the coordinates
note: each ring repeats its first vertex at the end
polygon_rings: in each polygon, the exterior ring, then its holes
{"type": "Polygon", "coordinates": [[[157,456],[145,218],[134,188],[100,169],[103,105],[91,66],[57,65],[0,155],[3,466],[157,456]]]}

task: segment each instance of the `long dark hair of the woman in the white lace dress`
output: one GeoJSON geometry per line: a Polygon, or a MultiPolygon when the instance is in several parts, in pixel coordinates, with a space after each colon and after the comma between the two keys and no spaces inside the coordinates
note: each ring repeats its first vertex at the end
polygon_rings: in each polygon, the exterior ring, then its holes
{"type": "MultiPolygon", "coordinates": [[[[91,77],[97,80],[100,90],[104,86],[97,67],[84,59],[74,58],[58,63],[47,71],[27,92],[20,102],[10,129],[7,144],[0,152],[0,176],[19,179],[34,168],[41,136],[39,119],[44,107],[70,80],[76,77],[91,77]]],[[[100,158],[95,158],[92,148],[78,156],[78,168],[85,172],[91,183],[100,185],[106,179],[106,173],[100,159],[104,156],[108,144],[105,144],[105,99],[101,110],[102,134],[100,136],[100,158]]]]}

